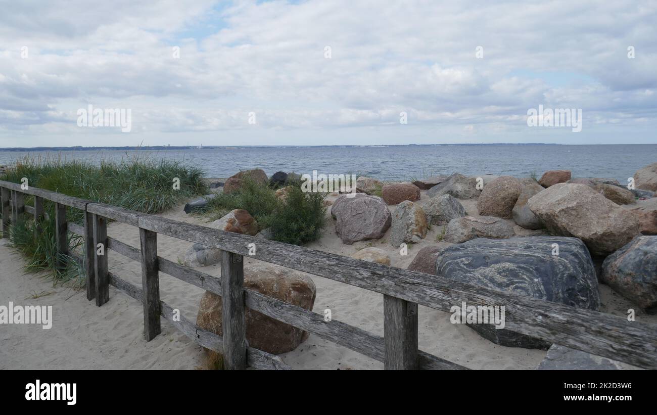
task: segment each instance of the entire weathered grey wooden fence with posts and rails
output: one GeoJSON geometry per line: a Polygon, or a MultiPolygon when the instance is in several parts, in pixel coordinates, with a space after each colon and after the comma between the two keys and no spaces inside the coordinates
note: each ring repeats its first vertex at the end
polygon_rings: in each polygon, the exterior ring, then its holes
{"type": "Polygon", "coordinates": [[[248,347],[245,308],[382,361],[386,369],[465,369],[418,349],[417,306],[449,312],[453,305],[461,305],[462,301],[474,306],[504,305],[505,326],[514,332],[642,368],[657,368],[657,327],[649,324],[333,253],[181,223],[48,190],[24,189],[15,183],[0,181],[0,188],[4,238],[8,237],[9,227],[16,223],[19,215],[31,213],[38,223],[44,215],[43,201],[55,202],[58,250],[75,256],[69,252],[66,232],[82,236],[85,241],[85,255],[78,260],[83,263],[87,277],[87,299],[95,299],[97,305],[103,305],[109,299],[108,286],[111,284],[143,303],[147,341],[160,333],[160,317],[165,318],[196,343],[223,353],[227,369],[246,366],[289,368],[279,357],[248,347]],[[25,194],[34,196],[34,207],[25,206],[25,194]],[[83,211],[83,225],[67,222],[67,207],[83,211]],[[108,237],[108,219],[138,227],[141,247],[138,249],[108,237]],[[158,234],[222,250],[221,278],[159,257],[158,234]],[[245,290],[242,260],[243,255],[249,255],[250,244],[256,244],[256,253],[251,256],[254,259],[384,295],[383,338],[343,322],[326,321],[323,315],[313,311],[245,290]],[[98,254],[99,250],[102,255],[98,254]],[[141,288],[108,271],[108,250],[141,263],[141,288]],[[222,336],[198,328],[182,316],[179,321],[174,320],[173,308],[160,301],[159,273],[221,295],[222,336]]]}

